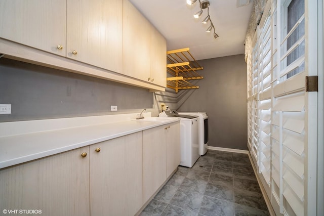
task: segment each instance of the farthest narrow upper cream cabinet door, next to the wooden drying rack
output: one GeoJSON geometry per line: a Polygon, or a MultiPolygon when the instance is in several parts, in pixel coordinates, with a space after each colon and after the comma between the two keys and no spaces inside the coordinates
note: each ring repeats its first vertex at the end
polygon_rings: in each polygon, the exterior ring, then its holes
{"type": "Polygon", "coordinates": [[[167,88],[167,41],[153,26],[150,46],[150,81],[167,88]]]}

